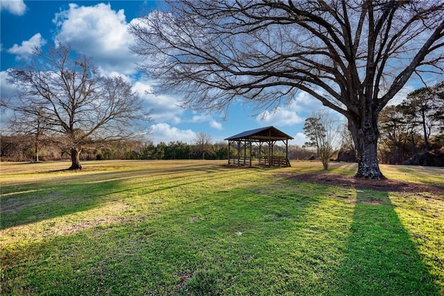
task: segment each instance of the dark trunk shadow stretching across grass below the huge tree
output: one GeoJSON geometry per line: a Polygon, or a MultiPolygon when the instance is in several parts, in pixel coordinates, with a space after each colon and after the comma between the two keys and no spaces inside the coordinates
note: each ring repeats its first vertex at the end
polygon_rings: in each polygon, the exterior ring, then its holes
{"type": "Polygon", "coordinates": [[[386,192],[357,192],[342,295],[440,295],[386,192]]]}

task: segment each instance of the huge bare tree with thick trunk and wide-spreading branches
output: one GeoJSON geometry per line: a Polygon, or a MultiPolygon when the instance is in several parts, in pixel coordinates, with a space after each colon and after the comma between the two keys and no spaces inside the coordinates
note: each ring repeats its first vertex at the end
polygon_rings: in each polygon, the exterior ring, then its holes
{"type": "Polygon", "coordinates": [[[167,0],[130,27],[146,74],[185,106],[304,91],[348,119],[357,177],[382,179],[377,117],[413,73],[443,74],[442,1],[167,0]]]}

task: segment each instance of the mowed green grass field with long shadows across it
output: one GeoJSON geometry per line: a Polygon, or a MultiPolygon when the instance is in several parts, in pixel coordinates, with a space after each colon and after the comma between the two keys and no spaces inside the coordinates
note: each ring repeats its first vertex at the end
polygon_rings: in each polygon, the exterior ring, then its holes
{"type": "MultiPolygon", "coordinates": [[[[0,163],[1,295],[444,295],[444,192],[224,164],[0,163]]],[[[443,168],[381,168],[444,186],[443,168]]]]}

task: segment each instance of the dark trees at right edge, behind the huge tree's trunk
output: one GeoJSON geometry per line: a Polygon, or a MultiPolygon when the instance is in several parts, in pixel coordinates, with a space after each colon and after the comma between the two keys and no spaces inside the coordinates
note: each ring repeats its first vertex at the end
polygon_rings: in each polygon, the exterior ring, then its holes
{"type": "Polygon", "coordinates": [[[379,131],[382,163],[440,165],[418,162],[418,157],[444,154],[440,151],[444,147],[444,81],[409,93],[398,105],[386,106],[379,116],[379,131]]]}

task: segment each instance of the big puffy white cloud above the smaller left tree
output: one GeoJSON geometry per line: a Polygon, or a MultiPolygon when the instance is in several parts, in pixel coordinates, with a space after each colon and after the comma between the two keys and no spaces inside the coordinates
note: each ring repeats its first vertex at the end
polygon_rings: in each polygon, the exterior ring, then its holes
{"type": "Polygon", "coordinates": [[[56,40],[92,57],[105,72],[137,71],[138,58],[128,48],[133,38],[128,33],[123,9],[112,10],[110,3],[96,6],[70,3],[69,10],[56,14],[53,22],[58,27],[56,40]]]}

